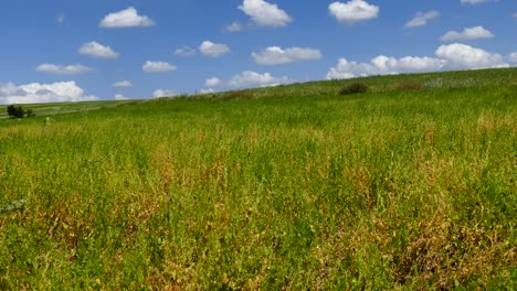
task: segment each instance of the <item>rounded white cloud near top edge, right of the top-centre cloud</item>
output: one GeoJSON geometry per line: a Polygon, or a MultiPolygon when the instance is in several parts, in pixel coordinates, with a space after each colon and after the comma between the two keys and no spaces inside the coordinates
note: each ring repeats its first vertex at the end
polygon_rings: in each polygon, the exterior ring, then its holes
{"type": "Polygon", "coordinates": [[[347,3],[334,2],[328,6],[328,11],[337,21],[352,24],[377,18],[380,9],[363,0],[351,0],[347,3]]]}

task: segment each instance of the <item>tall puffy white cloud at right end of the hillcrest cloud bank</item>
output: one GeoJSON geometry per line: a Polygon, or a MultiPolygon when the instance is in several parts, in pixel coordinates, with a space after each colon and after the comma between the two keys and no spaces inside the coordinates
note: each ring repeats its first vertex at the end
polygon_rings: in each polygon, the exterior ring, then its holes
{"type": "Polygon", "coordinates": [[[436,56],[446,62],[446,69],[507,67],[503,56],[466,44],[441,45],[436,56]]]}

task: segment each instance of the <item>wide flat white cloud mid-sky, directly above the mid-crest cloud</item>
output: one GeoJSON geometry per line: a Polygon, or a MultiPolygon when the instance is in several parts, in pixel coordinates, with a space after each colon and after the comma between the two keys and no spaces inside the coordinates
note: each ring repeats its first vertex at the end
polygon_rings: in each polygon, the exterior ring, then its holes
{"type": "Polygon", "coordinates": [[[281,65],[305,60],[319,60],[321,53],[308,47],[282,48],[271,46],[261,52],[252,53],[252,57],[258,65],[281,65]]]}

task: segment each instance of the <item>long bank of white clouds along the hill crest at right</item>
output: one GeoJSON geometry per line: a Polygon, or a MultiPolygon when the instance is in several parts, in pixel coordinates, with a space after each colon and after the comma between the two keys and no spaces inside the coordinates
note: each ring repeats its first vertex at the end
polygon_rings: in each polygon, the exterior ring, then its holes
{"type": "Polygon", "coordinates": [[[503,63],[503,57],[498,54],[458,43],[440,46],[435,55],[435,57],[405,56],[402,58],[380,55],[372,58],[370,63],[340,58],[337,66],[330,68],[327,78],[508,66],[508,64],[503,63]]]}

